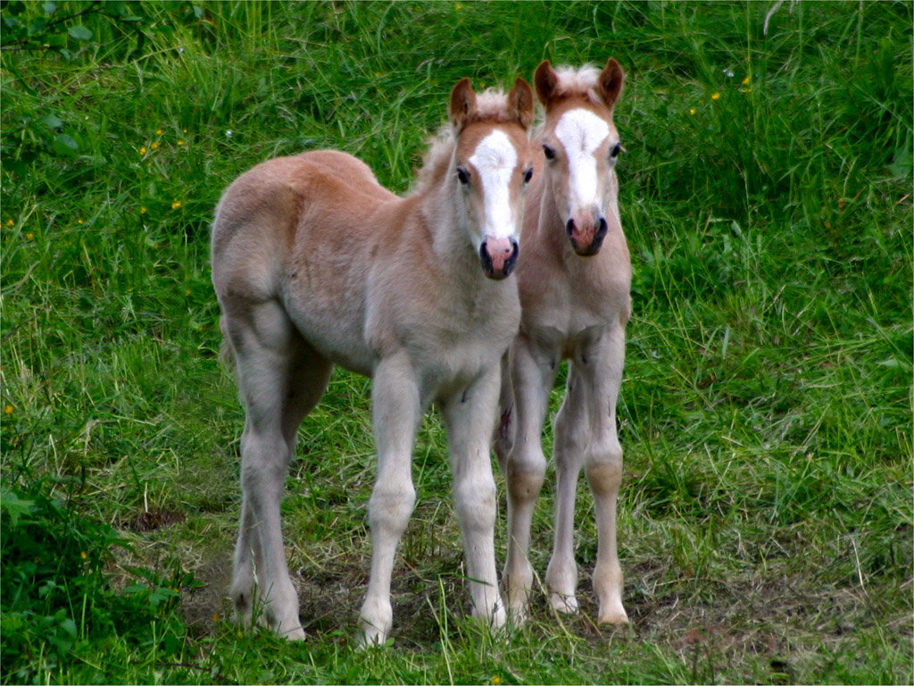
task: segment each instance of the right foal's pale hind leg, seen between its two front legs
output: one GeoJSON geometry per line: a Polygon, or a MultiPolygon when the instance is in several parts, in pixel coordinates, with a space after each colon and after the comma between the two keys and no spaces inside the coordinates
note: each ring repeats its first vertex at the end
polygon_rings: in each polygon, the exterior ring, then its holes
{"type": "Polygon", "coordinates": [[[553,445],[556,460],[555,539],[546,570],[550,605],[560,612],[569,613],[578,611],[578,599],[575,597],[578,565],[574,560],[574,506],[580,467],[589,440],[588,395],[579,363],[572,360],[565,400],[556,418],[553,445]]]}

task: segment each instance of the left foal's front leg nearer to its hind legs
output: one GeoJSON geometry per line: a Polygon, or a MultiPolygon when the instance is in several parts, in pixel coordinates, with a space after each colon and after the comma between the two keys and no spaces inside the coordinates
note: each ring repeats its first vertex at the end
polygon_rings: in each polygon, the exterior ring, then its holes
{"type": "Polygon", "coordinates": [[[371,575],[359,616],[361,639],[384,643],[393,626],[390,576],[394,557],[416,503],[412,446],[421,417],[419,385],[405,355],[382,360],[371,391],[377,480],[368,502],[371,575]]]}

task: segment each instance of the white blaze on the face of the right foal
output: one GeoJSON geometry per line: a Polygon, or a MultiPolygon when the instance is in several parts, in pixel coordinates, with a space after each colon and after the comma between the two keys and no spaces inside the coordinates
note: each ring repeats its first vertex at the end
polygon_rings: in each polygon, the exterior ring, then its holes
{"type": "Polygon", "coordinates": [[[609,134],[610,125],[590,110],[569,110],[558,119],[556,137],[569,161],[569,200],[573,208],[594,202],[600,205],[597,160],[593,154],[609,134]]]}

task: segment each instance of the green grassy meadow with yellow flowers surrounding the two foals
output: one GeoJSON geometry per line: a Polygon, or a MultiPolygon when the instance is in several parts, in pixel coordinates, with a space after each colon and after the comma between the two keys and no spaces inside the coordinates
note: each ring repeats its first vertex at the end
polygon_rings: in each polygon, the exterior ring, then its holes
{"type": "MultiPolygon", "coordinates": [[[[0,681],[914,681],[912,25],[909,2],[0,5],[0,681]],[[332,147],[408,192],[458,79],[610,56],[631,626],[594,623],[583,481],[581,614],[537,595],[507,638],[473,625],[430,413],[393,646],[353,649],[370,385],[335,370],[282,504],[308,638],[239,627],[222,189],[332,147]]],[[[551,502],[550,466],[540,575],[551,502]]]]}

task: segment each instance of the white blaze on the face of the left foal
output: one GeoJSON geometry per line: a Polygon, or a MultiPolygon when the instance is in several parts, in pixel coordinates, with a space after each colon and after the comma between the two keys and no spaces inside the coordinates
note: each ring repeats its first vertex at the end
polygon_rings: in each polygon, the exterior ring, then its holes
{"type": "Polygon", "coordinates": [[[511,175],[517,164],[517,151],[504,131],[493,131],[476,145],[467,160],[479,173],[483,188],[483,236],[509,238],[514,235],[511,212],[511,175]]]}

